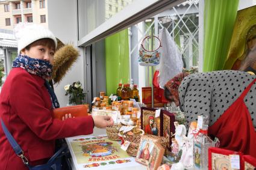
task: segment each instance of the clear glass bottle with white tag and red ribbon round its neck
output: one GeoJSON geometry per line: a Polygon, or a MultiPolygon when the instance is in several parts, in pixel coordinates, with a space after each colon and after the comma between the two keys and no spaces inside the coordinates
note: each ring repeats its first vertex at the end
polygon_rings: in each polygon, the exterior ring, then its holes
{"type": "Polygon", "coordinates": [[[208,148],[214,147],[214,142],[207,135],[208,115],[198,116],[198,136],[194,139],[194,169],[208,169],[208,148]]]}

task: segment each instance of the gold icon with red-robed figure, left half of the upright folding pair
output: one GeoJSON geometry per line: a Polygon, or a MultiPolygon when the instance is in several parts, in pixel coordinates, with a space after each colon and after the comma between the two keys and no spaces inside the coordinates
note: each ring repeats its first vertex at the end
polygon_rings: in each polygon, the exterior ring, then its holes
{"type": "Polygon", "coordinates": [[[142,108],[142,129],[146,134],[161,136],[160,117],[155,118],[155,110],[142,108]]]}

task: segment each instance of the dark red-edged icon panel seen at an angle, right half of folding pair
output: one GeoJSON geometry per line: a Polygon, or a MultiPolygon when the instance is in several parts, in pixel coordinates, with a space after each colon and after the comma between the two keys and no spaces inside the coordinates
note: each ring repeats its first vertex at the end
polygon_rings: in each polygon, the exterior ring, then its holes
{"type": "Polygon", "coordinates": [[[167,144],[167,148],[170,151],[170,146],[172,145],[172,135],[175,133],[175,115],[166,111],[161,110],[162,122],[161,123],[161,136],[164,136],[168,139],[169,144],[167,144]]]}

